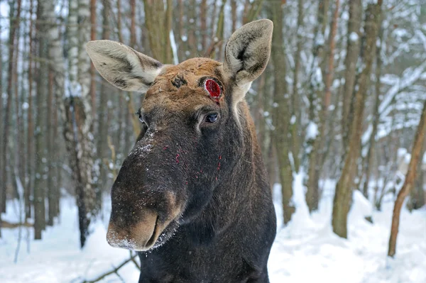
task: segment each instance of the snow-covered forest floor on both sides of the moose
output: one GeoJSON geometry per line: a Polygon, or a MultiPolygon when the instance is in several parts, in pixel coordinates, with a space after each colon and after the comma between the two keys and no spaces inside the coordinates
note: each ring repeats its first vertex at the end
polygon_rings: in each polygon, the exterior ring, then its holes
{"type": "MultiPolygon", "coordinates": [[[[300,176],[295,183],[300,184],[300,176]]],[[[395,259],[386,257],[393,202],[372,211],[373,224],[364,220],[371,204],[359,192],[349,215],[349,239],[332,233],[332,182],[325,186],[320,210],[309,216],[301,186],[295,187],[297,211],[282,228],[280,186],[275,185],[278,233],[269,258],[272,283],[424,283],[426,282],[426,209],[410,213],[403,209],[395,259]]],[[[108,208],[105,209],[108,218],[108,208]]],[[[21,248],[15,263],[18,229],[3,229],[0,239],[0,282],[82,282],[111,270],[129,257],[129,251],[111,248],[105,240],[107,221],[94,224],[83,250],[79,248],[77,208],[71,198],[61,202],[61,215],[47,228],[43,240],[33,239],[32,229],[22,228],[21,248]],[[27,240],[29,236],[29,242],[27,240]],[[29,252],[28,252],[29,250],[29,252]]],[[[13,204],[4,215],[17,221],[13,204]]],[[[129,262],[119,275],[102,282],[137,282],[138,270],[129,262]]]]}

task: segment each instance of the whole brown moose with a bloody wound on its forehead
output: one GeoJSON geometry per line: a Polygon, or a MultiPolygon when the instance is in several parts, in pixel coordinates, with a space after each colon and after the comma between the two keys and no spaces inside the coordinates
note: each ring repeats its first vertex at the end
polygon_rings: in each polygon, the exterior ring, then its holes
{"type": "Polygon", "coordinates": [[[138,251],[139,282],[269,282],[275,211],[244,97],[268,64],[272,31],[266,19],[242,26],[223,63],[163,65],[121,43],[87,43],[104,79],[146,93],[107,231],[109,245],[138,251]]]}

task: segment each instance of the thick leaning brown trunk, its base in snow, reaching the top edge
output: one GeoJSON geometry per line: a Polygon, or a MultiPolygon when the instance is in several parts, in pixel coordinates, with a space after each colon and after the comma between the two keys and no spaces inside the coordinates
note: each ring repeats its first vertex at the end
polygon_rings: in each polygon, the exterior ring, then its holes
{"type": "Polygon", "coordinates": [[[371,67],[376,51],[378,21],[381,16],[381,1],[379,4],[368,4],[366,9],[365,45],[363,50],[364,70],[359,76],[358,91],[354,97],[354,117],[351,125],[349,150],[344,161],[342,175],[337,182],[333,201],[332,226],[333,231],[342,238],[347,238],[347,216],[356,176],[357,160],[360,155],[362,124],[367,87],[370,82],[371,67]]]}

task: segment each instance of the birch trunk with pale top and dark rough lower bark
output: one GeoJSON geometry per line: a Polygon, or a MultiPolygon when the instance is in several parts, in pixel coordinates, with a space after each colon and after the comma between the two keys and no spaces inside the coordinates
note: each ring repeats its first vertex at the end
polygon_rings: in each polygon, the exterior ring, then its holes
{"type": "MultiPolygon", "coordinates": [[[[89,101],[90,61],[84,51],[84,45],[90,38],[89,6],[87,1],[72,0],[69,9],[68,38],[70,40],[69,77],[70,96],[64,101],[62,121],[64,123],[64,136],[67,152],[70,156],[70,167],[75,182],[77,197],[80,245],[84,246],[87,235],[89,235],[89,224],[97,214],[96,186],[93,162],[93,139],[92,133],[92,111],[89,101]],[[78,19],[78,21],[77,21],[78,19]],[[77,26],[78,25],[78,26],[77,26]]],[[[58,47],[51,52],[58,52],[58,47]]],[[[55,64],[56,65],[56,64],[55,64]]],[[[62,82],[57,82],[62,84],[62,82]]],[[[62,88],[63,89],[63,88],[62,88]]]]}

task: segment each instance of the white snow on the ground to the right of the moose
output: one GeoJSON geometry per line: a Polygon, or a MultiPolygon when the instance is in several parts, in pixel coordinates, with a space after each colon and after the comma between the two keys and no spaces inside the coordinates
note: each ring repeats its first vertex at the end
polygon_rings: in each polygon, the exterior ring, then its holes
{"type": "MultiPolygon", "coordinates": [[[[296,175],[293,199],[304,192],[298,178],[296,175]]],[[[297,211],[300,206],[296,204],[292,221],[278,230],[268,262],[271,282],[426,282],[426,209],[413,213],[403,209],[397,254],[390,259],[386,255],[393,202],[384,203],[382,211],[373,211],[361,192],[355,191],[348,216],[348,239],[339,238],[331,226],[334,185],[326,182],[319,211],[309,216],[303,206],[302,213],[297,211]],[[373,223],[365,216],[372,216],[373,223]]],[[[279,185],[274,187],[274,196],[280,196],[279,185]]],[[[282,213],[279,204],[275,199],[277,214],[282,213]]],[[[282,221],[280,214],[278,219],[282,221]]]]}

